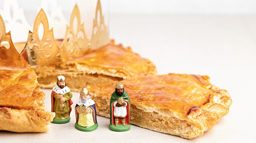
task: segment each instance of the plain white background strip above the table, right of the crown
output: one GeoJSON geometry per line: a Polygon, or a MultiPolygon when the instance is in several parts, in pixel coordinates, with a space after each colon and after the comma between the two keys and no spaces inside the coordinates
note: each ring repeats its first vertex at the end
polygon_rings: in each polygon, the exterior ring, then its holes
{"type": "Polygon", "coordinates": [[[255,0],[110,0],[111,14],[256,14],[255,0]]]}

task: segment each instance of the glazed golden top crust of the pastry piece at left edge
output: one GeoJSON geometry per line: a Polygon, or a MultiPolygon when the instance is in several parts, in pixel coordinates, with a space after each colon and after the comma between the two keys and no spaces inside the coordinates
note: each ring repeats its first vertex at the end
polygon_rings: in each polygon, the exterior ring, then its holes
{"type": "Polygon", "coordinates": [[[0,67],[0,85],[0,108],[43,109],[44,93],[32,67],[0,67]]]}

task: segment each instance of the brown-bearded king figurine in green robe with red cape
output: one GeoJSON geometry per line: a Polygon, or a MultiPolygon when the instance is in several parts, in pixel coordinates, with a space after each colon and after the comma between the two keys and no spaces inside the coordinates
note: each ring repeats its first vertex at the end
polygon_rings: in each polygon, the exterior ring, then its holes
{"type": "Polygon", "coordinates": [[[63,124],[70,121],[70,112],[73,104],[72,93],[66,86],[65,77],[57,77],[57,85],[53,87],[51,94],[52,112],[55,112],[53,123],[63,124]]]}

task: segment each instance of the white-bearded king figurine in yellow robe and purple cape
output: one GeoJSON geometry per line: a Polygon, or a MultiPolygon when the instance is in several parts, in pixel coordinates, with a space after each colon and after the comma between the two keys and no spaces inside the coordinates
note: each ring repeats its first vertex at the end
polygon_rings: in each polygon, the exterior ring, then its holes
{"type": "Polygon", "coordinates": [[[80,131],[90,132],[98,127],[95,102],[90,99],[89,91],[83,88],[80,99],[75,105],[75,128],[80,131]]]}

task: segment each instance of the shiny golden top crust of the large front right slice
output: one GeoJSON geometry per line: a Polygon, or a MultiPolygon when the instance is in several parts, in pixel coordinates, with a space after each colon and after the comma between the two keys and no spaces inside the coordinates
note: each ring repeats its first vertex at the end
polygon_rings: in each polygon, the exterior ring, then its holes
{"type": "MultiPolygon", "coordinates": [[[[232,103],[228,92],[212,85],[208,76],[169,73],[120,82],[129,95],[131,107],[135,105],[148,112],[187,120],[206,130],[227,114],[232,103]]],[[[107,100],[115,91],[115,85],[109,83],[86,88],[107,100]]]]}

